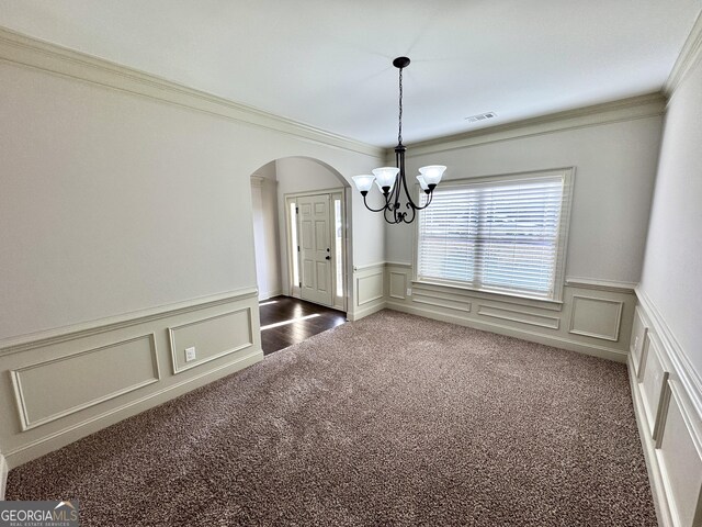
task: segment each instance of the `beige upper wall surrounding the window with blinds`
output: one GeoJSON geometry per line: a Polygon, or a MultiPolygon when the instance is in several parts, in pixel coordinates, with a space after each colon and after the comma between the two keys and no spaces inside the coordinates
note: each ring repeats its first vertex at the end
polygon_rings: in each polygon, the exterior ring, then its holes
{"type": "MultiPolygon", "coordinates": [[[[654,113],[656,111],[654,103],[654,113]]],[[[615,122],[464,147],[437,142],[435,153],[411,155],[408,175],[423,165],[446,165],[445,179],[575,167],[566,277],[636,283],[646,239],[661,133],[661,116],[638,113],[615,122]],[[451,149],[445,149],[451,148],[451,149]]],[[[566,121],[564,120],[564,123],[566,121]]],[[[409,153],[412,154],[411,146],[409,153]]],[[[412,261],[412,228],[386,227],[387,259],[412,261]]]]}

